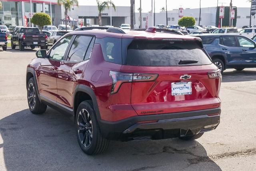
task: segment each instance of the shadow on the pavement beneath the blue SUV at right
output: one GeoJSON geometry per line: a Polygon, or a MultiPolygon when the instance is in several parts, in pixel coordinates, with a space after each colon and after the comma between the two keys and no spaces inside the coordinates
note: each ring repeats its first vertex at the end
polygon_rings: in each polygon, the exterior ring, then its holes
{"type": "Polygon", "coordinates": [[[256,71],[228,71],[223,72],[222,82],[248,82],[256,80],[256,71]]]}

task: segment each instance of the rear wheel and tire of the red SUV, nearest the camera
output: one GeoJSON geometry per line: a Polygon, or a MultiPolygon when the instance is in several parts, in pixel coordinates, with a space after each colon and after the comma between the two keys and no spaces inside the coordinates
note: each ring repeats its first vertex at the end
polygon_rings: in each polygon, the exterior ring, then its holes
{"type": "Polygon", "coordinates": [[[88,155],[104,152],[109,140],[102,137],[91,100],[82,101],[76,111],[76,135],[78,143],[88,155]]]}

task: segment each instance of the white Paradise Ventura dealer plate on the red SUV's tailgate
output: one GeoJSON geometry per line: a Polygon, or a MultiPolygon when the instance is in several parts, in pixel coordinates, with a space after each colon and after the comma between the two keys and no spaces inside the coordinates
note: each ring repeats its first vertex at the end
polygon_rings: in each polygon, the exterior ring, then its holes
{"type": "Polygon", "coordinates": [[[172,95],[189,95],[192,94],[192,82],[172,83],[172,95]]]}

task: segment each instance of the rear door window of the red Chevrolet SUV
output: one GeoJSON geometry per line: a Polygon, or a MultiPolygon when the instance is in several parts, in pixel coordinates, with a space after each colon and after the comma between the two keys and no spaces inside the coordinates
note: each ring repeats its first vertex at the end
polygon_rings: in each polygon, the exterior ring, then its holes
{"type": "Polygon", "coordinates": [[[76,36],[69,51],[67,61],[83,61],[91,40],[91,36],[76,36]]]}

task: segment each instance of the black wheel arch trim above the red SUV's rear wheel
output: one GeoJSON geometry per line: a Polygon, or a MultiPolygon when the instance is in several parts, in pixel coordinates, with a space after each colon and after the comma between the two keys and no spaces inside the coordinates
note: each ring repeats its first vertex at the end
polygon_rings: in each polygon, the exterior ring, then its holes
{"type": "Polygon", "coordinates": [[[78,105],[85,100],[92,100],[94,111],[96,113],[96,118],[97,120],[100,120],[101,117],[100,117],[100,111],[99,111],[96,95],[90,87],[82,84],[76,85],[76,88],[74,91],[74,100],[73,100],[74,120],[76,117],[76,110],[78,108],[78,105]]]}

